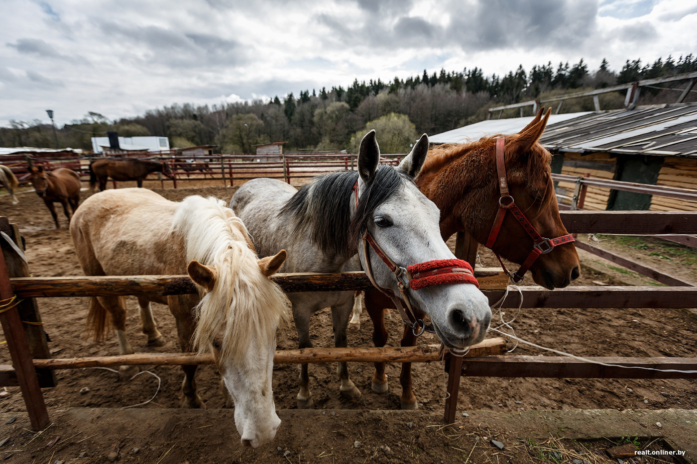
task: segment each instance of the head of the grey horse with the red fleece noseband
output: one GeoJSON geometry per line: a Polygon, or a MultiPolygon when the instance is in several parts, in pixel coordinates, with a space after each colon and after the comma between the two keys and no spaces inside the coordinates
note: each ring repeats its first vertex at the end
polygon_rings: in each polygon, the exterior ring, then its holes
{"type": "Polygon", "coordinates": [[[372,274],[374,284],[401,295],[402,300],[429,315],[441,341],[461,348],[482,341],[491,320],[489,301],[476,281],[464,283],[458,276],[434,286],[406,284],[405,288],[404,277],[390,270],[389,264],[392,261],[397,268],[407,270],[410,265],[454,262],[455,256],[438,229],[440,211],[414,183],[428,147],[428,137],[423,134],[399,167],[380,166],[375,132],[363,137],[358,153],[358,192],[355,201],[351,199],[355,211],[351,237],[354,242],[369,238],[376,243],[372,249],[358,246],[362,266],[372,274]]]}

